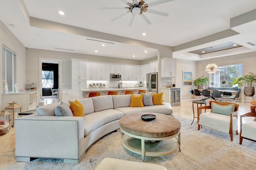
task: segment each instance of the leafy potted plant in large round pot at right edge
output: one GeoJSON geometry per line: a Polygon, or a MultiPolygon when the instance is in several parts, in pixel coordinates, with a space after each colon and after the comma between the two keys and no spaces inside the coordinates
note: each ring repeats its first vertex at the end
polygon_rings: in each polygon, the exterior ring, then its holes
{"type": "Polygon", "coordinates": [[[256,74],[249,72],[249,74],[239,77],[237,79],[238,84],[244,83],[244,95],[245,96],[254,96],[255,94],[255,83],[256,83],[256,74]]]}

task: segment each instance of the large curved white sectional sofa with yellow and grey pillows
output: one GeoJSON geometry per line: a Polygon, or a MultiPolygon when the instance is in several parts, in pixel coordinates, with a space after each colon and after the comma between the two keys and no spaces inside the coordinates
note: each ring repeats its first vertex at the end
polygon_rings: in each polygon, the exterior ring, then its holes
{"type": "MultiPolygon", "coordinates": [[[[37,113],[17,118],[16,160],[59,158],[77,164],[95,141],[120,128],[119,119],[124,115],[156,112],[173,116],[169,103],[129,107],[131,95],[98,96],[78,101],[84,106],[84,117],[55,116],[55,108],[60,104],[56,103],[38,107],[37,113]]],[[[69,106],[70,101],[64,103],[69,106]]]]}

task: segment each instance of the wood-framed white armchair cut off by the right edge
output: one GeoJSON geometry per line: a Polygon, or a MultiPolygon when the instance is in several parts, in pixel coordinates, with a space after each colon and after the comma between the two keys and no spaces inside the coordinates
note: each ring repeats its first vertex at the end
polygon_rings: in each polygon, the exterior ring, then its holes
{"type": "Polygon", "coordinates": [[[240,140],[242,145],[243,139],[256,142],[256,106],[250,106],[251,111],[240,115],[240,140]]]}

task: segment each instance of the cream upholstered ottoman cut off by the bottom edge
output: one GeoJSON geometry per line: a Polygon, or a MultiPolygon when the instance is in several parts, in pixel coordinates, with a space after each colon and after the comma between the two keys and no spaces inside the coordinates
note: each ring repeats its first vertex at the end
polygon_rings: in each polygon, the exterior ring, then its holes
{"type": "Polygon", "coordinates": [[[167,170],[162,165],[104,158],[94,170],[167,170]]]}

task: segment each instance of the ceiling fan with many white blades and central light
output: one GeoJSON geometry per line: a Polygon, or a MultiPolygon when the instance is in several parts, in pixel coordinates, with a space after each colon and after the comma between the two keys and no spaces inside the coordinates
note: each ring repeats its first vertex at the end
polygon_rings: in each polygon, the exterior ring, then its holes
{"type": "Polygon", "coordinates": [[[132,3],[127,2],[126,0],[120,0],[122,2],[124,2],[125,4],[128,5],[128,7],[103,7],[103,8],[99,8],[100,10],[106,10],[106,9],[126,9],[128,10],[126,13],[117,16],[116,18],[113,18],[111,21],[114,21],[126,14],[132,13],[132,18],[130,20],[129,26],[132,26],[132,22],[135,18],[135,16],[141,16],[141,18],[148,24],[150,25],[151,22],[148,20],[148,18],[146,18],[146,16],[143,14],[144,12],[148,12],[148,13],[152,13],[152,14],[157,14],[160,16],[168,16],[168,13],[165,12],[160,12],[160,11],[156,11],[156,10],[150,10],[148,9],[148,7],[151,6],[155,6],[158,4],[164,4],[166,2],[170,2],[170,1],[174,1],[174,0],[158,0],[155,2],[150,2],[148,4],[145,4],[146,0],[140,0],[140,2],[138,2],[137,0],[132,0],[132,3]]]}

